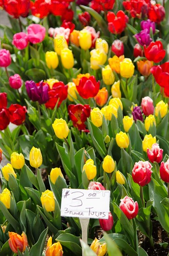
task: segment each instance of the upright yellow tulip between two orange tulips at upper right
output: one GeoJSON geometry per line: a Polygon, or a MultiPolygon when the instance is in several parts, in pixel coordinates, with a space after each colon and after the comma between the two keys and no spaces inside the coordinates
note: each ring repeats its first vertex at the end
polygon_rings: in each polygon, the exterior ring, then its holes
{"type": "Polygon", "coordinates": [[[130,78],[134,74],[134,65],[133,62],[125,58],[122,62],[120,62],[120,75],[122,77],[130,78]]]}

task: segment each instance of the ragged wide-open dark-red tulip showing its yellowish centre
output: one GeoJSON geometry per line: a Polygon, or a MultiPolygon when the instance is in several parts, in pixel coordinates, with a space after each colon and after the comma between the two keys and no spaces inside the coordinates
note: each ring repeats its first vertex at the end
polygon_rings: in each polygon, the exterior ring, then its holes
{"type": "Polygon", "coordinates": [[[84,122],[91,114],[91,107],[89,105],[70,104],[68,106],[68,113],[71,121],[73,121],[73,126],[79,130],[84,130],[86,128],[84,122]]]}

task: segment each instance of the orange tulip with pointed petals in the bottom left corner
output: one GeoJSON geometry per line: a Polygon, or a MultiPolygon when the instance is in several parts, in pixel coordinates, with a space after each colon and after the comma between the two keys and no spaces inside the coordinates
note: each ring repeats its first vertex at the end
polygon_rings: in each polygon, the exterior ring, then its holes
{"type": "Polygon", "coordinates": [[[21,236],[14,232],[8,232],[8,234],[9,234],[8,242],[11,250],[17,254],[18,254],[18,250],[20,252],[24,252],[26,250],[26,246],[28,246],[26,234],[24,232],[22,232],[21,236]]]}

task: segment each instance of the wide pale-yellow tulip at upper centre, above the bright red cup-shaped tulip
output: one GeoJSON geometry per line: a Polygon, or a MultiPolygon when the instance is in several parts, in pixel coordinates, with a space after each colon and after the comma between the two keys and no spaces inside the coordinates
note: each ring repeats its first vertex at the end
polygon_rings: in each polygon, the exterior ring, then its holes
{"type": "Polygon", "coordinates": [[[103,49],[93,49],[91,52],[91,68],[96,70],[99,65],[104,65],[107,60],[107,54],[105,54],[103,49]]]}

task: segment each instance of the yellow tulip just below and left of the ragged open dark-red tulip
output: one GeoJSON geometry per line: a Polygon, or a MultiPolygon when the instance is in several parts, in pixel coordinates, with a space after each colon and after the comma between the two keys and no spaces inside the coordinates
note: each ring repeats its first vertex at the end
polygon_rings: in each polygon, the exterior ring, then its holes
{"type": "Polygon", "coordinates": [[[55,132],[55,135],[59,139],[65,139],[67,138],[69,134],[69,128],[67,126],[67,123],[62,118],[55,119],[54,123],[52,124],[53,130],[55,132]]]}

